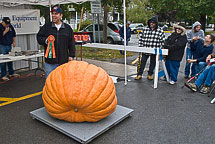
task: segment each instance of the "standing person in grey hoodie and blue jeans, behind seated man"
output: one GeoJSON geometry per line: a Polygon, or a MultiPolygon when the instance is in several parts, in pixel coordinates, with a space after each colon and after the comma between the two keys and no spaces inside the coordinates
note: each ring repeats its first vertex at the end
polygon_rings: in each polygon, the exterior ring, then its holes
{"type": "Polygon", "coordinates": [[[196,51],[192,50],[190,47],[191,42],[195,43],[197,40],[204,40],[204,31],[201,29],[201,24],[196,21],[192,25],[192,30],[187,32],[187,49],[186,49],[186,65],[184,70],[184,78],[189,78],[189,76],[194,76],[196,74],[195,64],[192,65],[187,61],[188,59],[193,59],[196,55],[196,51]],[[191,75],[190,75],[190,68],[191,68],[191,75]]]}

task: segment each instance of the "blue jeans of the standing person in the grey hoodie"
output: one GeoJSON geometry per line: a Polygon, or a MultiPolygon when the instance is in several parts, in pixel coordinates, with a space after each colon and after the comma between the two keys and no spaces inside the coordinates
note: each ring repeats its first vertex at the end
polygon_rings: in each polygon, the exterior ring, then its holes
{"type": "MultiPolygon", "coordinates": [[[[191,63],[187,63],[187,59],[193,59],[193,57],[195,57],[195,52],[192,52],[190,48],[187,48],[187,50],[186,50],[186,66],[185,66],[185,71],[184,71],[184,74],[186,76],[190,75],[190,65],[191,65],[191,63]]],[[[196,64],[193,63],[192,67],[191,67],[191,76],[194,76],[196,74],[195,66],[196,66],[196,64]]]]}

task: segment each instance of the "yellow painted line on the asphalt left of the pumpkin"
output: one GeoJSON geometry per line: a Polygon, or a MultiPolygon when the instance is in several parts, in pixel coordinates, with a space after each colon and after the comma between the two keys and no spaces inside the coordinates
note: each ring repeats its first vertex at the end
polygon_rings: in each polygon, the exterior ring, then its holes
{"type": "MultiPolygon", "coordinates": [[[[32,98],[32,97],[35,97],[35,96],[39,96],[41,94],[42,94],[42,91],[34,93],[34,94],[26,95],[26,96],[23,96],[23,97],[20,97],[20,98],[8,98],[8,101],[4,102],[4,103],[1,103],[0,106],[5,106],[5,105],[8,105],[8,104],[17,102],[17,101],[21,101],[21,100],[24,100],[24,99],[28,99],[28,98],[32,98]]],[[[6,99],[2,98],[2,101],[3,100],[6,100],[6,99]]],[[[0,101],[1,101],[1,98],[0,98],[0,101]]]]}

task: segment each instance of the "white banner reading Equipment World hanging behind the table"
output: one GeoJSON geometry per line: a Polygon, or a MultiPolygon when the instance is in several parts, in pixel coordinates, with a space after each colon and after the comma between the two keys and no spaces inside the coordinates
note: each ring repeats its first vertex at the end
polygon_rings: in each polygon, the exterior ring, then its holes
{"type": "Polygon", "coordinates": [[[9,17],[16,34],[34,34],[39,31],[40,11],[35,9],[0,9],[0,22],[9,17]]]}

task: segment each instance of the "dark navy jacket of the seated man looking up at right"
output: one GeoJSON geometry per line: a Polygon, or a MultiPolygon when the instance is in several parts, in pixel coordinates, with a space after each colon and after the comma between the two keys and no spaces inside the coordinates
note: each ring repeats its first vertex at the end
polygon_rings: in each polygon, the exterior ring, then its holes
{"type": "Polygon", "coordinates": [[[196,55],[193,56],[194,59],[197,59],[197,62],[205,62],[209,54],[213,52],[213,44],[209,46],[204,45],[204,41],[199,39],[195,43],[190,43],[190,48],[192,51],[196,51],[196,55]]]}

